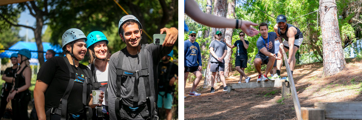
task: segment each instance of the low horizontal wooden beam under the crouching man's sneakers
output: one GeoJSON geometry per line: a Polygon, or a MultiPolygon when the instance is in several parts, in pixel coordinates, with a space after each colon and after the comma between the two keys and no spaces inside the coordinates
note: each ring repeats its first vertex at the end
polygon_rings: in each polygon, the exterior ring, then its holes
{"type": "Polygon", "coordinates": [[[249,83],[232,83],[232,89],[239,89],[239,88],[270,88],[270,87],[281,87],[282,82],[284,80],[274,80],[274,81],[261,81],[261,82],[249,82],[249,83]]]}

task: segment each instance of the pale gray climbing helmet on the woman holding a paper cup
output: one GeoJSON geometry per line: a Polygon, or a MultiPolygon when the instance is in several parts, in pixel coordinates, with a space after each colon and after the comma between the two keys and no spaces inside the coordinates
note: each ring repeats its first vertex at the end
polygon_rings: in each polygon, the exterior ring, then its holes
{"type": "Polygon", "coordinates": [[[84,39],[85,41],[87,41],[87,36],[84,35],[83,31],[77,28],[68,29],[66,32],[64,32],[62,36],[62,49],[64,49],[64,46],[66,46],[66,44],[78,39],[84,39]]]}

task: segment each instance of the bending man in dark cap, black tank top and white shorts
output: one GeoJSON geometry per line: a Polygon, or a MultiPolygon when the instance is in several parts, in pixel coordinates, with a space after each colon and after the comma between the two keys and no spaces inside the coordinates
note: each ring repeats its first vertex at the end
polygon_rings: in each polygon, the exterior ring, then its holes
{"type": "MultiPolygon", "coordinates": [[[[289,50],[288,63],[290,66],[290,70],[293,74],[295,66],[295,53],[303,42],[303,33],[300,32],[298,27],[287,24],[287,17],[285,17],[285,15],[278,15],[276,21],[277,24],[275,24],[274,26],[274,31],[277,34],[279,42],[282,41],[282,38],[284,39],[283,42],[280,43],[279,47],[281,48],[283,46],[285,52],[289,50]]],[[[280,61],[277,61],[277,75],[278,77],[280,77],[280,70],[283,64],[283,54],[281,49],[279,49],[278,58],[282,59],[280,61]]],[[[278,77],[268,77],[268,79],[279,79],[278,77]]],[[[285,81],[288,81],[287,77],[283,77],[283,79],[284,78],[285,81]]]]}

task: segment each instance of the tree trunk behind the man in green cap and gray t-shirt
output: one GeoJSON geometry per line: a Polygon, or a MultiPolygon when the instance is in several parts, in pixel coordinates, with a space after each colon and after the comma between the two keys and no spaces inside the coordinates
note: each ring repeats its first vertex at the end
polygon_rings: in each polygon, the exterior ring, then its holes
{"type": "MultiPolygon", "coordinates": [[[[215,0],[214,3],[214,12],[213,14],[219,17],[226,17],[226,6],[227,6],[227,2],[226,0],[215,0]]],[[[215,32],[216,31],[220,31],[221,33],[223,33],[223,35],[225,35],[225,28],[212,28],[210,35],[212,35],[211,37],[211,41],[215,40],[215,32]]],[[[222,38],[223,39],[223,38],[222,38]]],[[[210,42],[211,42],[210,41],[210,42]]],[[[209,48],[206,48],[209,49],[209,48]]],[[[209,58],[211,58],[212,55],[209,54],[209,58]]],[[[209,62],[207,63],[207,68],[206,68],[206,75],[205,75],[205,81],[204,81],[204,85],[203,88],[209,88],[211,86],[211,71],[210,71],[210,59],[208,60],[209,62]]],[[[218,74],[219,72],[217,72],[216,74],[218,74]]],[[[216,79],[216,78],[215,78],[216,79]]],[[[215,80],[217,81],[217,80],[215,80]]]]}

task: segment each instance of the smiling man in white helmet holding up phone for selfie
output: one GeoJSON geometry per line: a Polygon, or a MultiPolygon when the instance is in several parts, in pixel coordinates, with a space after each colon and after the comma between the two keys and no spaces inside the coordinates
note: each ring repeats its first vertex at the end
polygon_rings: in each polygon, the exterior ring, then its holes
{"type": "Polygon", "coordinates": [[[126,48],[111,55],[108,72],[108,101],[111,120],[155,120],[157,117],[157,65],[177,40],[176,28],[167,33],[163,45],[140,44],[142,25],[133,15],[118,24],[118,35],[126,48]]]}

